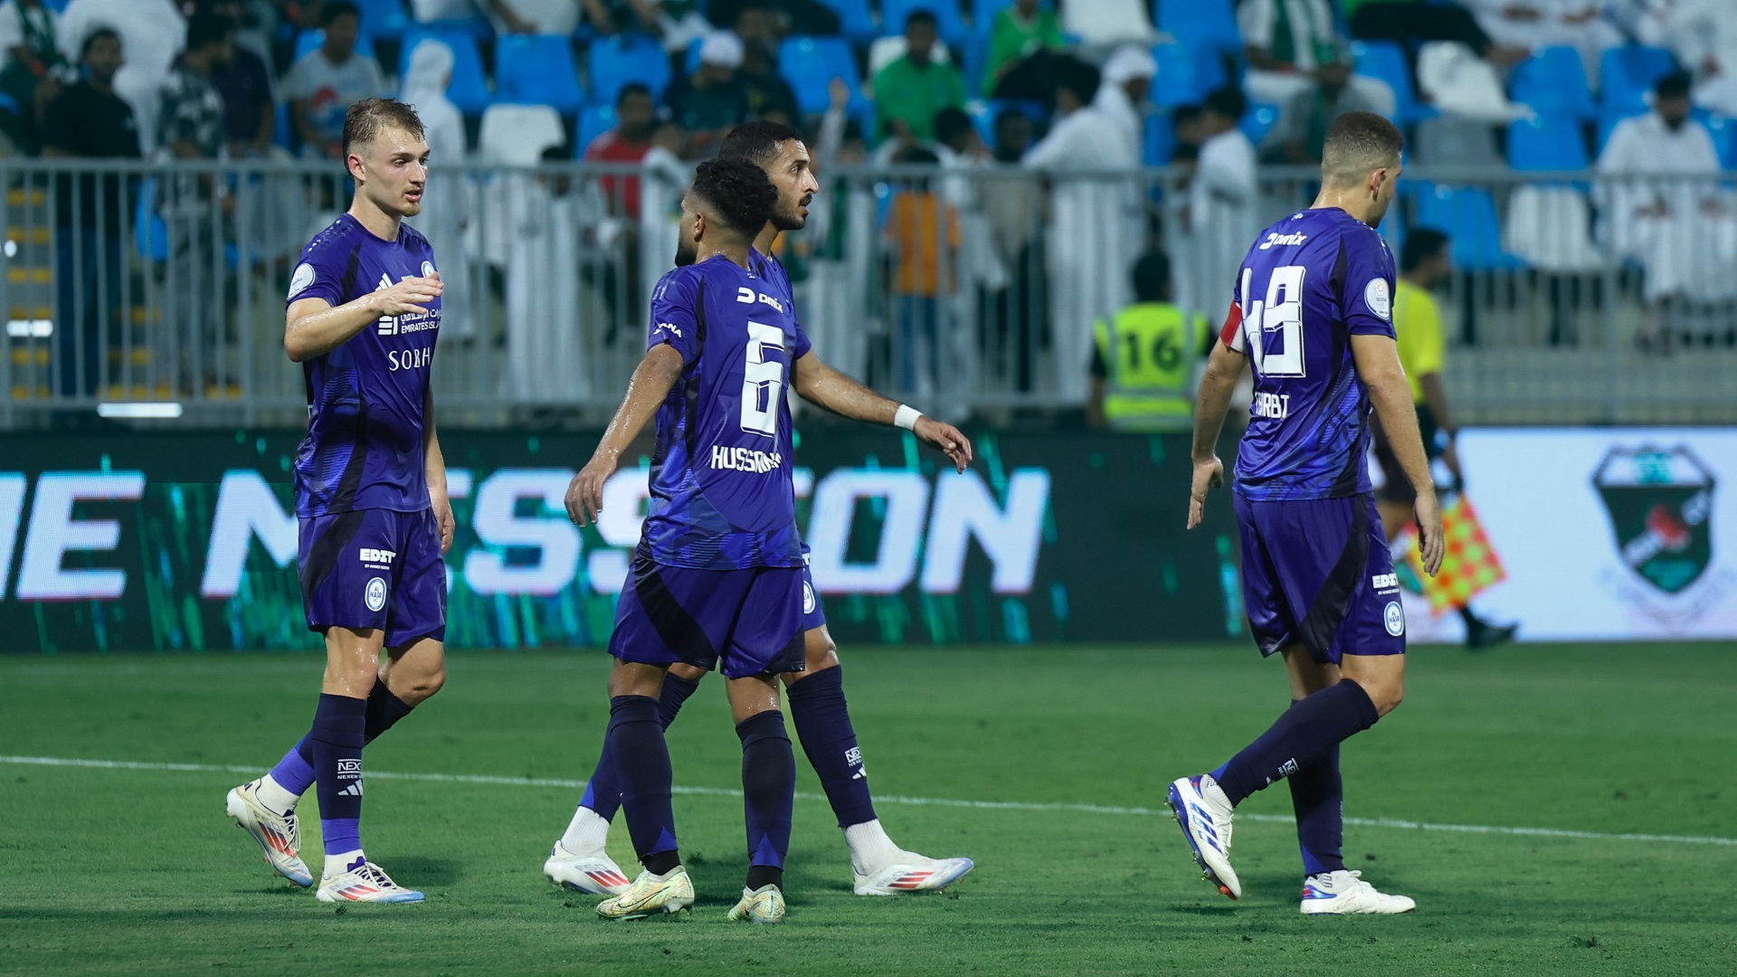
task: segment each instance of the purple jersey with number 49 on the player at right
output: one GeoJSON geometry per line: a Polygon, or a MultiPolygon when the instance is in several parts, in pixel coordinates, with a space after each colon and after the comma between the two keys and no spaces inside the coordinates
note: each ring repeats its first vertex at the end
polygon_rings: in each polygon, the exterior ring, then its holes
{"type": "Polygon", "coordinates": [[[1254,367],[1235,490],[1254,501],[1369,492],[1369,391],[1353,334],[1393,336],[1393,254],[1337,207],[1278,221],[1242,259],[1223,341],[1254,367]]]}

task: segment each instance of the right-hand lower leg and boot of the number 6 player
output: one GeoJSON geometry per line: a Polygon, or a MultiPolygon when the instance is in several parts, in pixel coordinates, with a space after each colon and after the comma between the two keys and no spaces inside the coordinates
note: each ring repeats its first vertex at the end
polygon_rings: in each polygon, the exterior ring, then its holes
{"type": "Polygon", "coordinates": [[[778,681],[766,675],[730,678],[730,716],[742,741],[742,812],[749,874],[731,920],[783,920],[783,859],[796,808],[796,751],[778,711],[778,681]]]}

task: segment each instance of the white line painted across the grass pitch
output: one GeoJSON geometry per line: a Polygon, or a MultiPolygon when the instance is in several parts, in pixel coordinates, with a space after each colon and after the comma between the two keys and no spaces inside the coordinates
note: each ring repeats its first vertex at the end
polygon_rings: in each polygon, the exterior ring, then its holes
{"type": "MultiPolygon", "coordinates": [[[[221,763],[144,763],[137,760],[76,760],[69,756],[0,756],[0,763],[24,767],[94,767],[99,770],[163,770],[186,774],[259,774],[261,767],[240,767],[221,763]]],[[[511,788],[570,788],[582,789],[584,781],[558,777],[493,777],[486,774],[394,774],[389,770],[368,770],[367,777],[380,781],[424,781],[436,784],[504,784],[511,788]]],[[[709,798],[740,798],[742,791],[730,788],[691,788],[674,786],[674,793],[709,798]]],[[[823,801],[825,794],[796,794],[801,800],[823,801]]],[[[964,807],[976,810],[1061,810],[1077,814],[1112,814],[1112,815],[1162,815],[1169,817],[1169,808],[1153,807],[1113,807],[1096,803],[1061,803],[1061,801],[968,801],[954,798],[907,798],[898,794],[877,794],[875,803],[902,803],[914,807],[964,807]]],[[[1273,824],[1291,824],[1292,819],[1280,814],[1242,814],[1240,821],[1265,821],[1273,824]]],[[[1723,845],[1737,847],[1737,838],[1718,838],[1711,834],[1614,834],[1603,831],[1570,831],[1563,827],[1511,827],[1499,824],[1435,824],[1431,821],[1402,821],[1397,817],[1346,817],[1346,824],[1357,827],[1403,827],[1409,831],[1447,831],[1454,834],[1509,834],[1520,838],[1579,838],[1586,841],[1664,841],[1673,845],[1723,845]]]]}

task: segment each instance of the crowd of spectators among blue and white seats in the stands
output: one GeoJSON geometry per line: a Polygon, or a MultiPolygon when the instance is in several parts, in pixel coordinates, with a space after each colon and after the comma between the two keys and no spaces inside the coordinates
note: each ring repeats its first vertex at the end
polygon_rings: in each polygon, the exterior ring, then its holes
{"type": "MultiPolygon", "coordinates": [[[[1487,189],[1424,188],[1410,223],[1449,233],[1463,268],[1572,275],[1600,254],[1628,259],[1647,273],[1641,339],[1661,346],[1673,302],[1728,302],[1737,287],[1704,273],[1737,257],[1716,183],[1737,163],[1728,0],[3,0],[0,49],[0,153],[12,156],[335,162],[344,110],[396,94],[422,113],[438,163],[639,165],[603,179],[601,216],[563,216],[559,186],[514,191],[511,240],[464,238],[474,186],[439,189],[426,219],[460,275],[485,254],[559,266],[551,221],[608,228],[598,240],[620,252],[603,283],[610,336],[637,320],[641,269],[670,252],[688,167],[730,127],[790,123],[823,174],[938,167],[891,200],[829,184],[794,256],[799,280],[846,275],[863,249],[881,256],[898,339],[888,379],[912,391],[959,367],[935,337],[969,296],[973,318],[992,323],[974,342],[1014,363],[1014,389],[1030,389],[1034,349],[1047,348],[1054,393],[1084,402],[1094,323],[1133,302],[1141,256],[1169,254],[1181,308],[1221,313],[1223,283],[1270,217],[1258,167],[1318,163],[1327,125],[1351,110],[1398,122],[1409,163],[1702,179],[1527,186],[1501,202],[1506,223],[1487,189]],[[1179,193],[1108,177],[1143,165],[1176,167],[1179,193]],[[992,169],[997,179],[945,176],[992,169]],[[1563,236],[1563,221],[1581,233],[1563,236]],[[870,236],[844,233],[863,224],[870,236]]],[[[90,318],[99,280],[120,275],[134,188],[82,181],[78,214],[59,203],[56,283],[61,308],[90,318]],[[92,256],[99,275],[82,273],[92,256]]],[[[217,224],[222,193],[168,181],[156,195],[181,242],[170,250],[210,264],[224,231],[200,228],[217,224]]],[[[283,242],[318,219],[318,202],[299,205],[281,207],[283,242]]],[[[512,344],[518,388],[559,384],[538,363],[570,349],[538,339],[538,323],[571,302],[511,282],[504,294],[507,329],[526,332],[512,344]]],[[[203,315],[193,306],[179,318],[203,315]]],[[[450,309],[448,334],[476,318],[450,309]]],[[[862,370],[860,356],[835,360],[862,370]]],[[[59,369],[63,393],[89,391],[97,372],[59,369]]]]}

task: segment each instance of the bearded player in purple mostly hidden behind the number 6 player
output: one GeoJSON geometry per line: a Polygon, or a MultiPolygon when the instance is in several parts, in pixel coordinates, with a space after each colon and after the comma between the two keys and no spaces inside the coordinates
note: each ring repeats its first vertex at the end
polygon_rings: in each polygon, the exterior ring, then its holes
{"type": "MultiPolygon", "coordinates": [[[[773,294],[780,302],[794,308],[790,280],[783,266],[771,257],[771,249],[780,233],[797,231],[808,223],[808,203],[820,189],[809,167],[808,146],[787,125],[749,122],[730,132],[719,148],[719,158],[745,160],[761,167],[778,189],[776,210],[754,238],[750,263],[756,275],[775,289],[773,294]]],[[[691,243],[684,238],[676,263],[691,261],[691,243]]],[[[792,376],[797,395],[834,414],[910,429],[921,442],[945,450],[959,462],[971,457],[971,443],[957,429],[875,395],[827,367],[813,351],[796,360],[792,376]]],[[[802,548],[802,671],[783,675],[785,697],[802,751],[820,775],[832,812],[844,831],[855,892],[896,895],[952,885],[971,871],[971,859],[929,859],[908,852],[893,843],[875,817],[862,749],[844,701],[844,669],[839,666],[837,645],[827,633],[827,619],[808,574],[806,546],[802,548]]],[[[688,662],[669,668],[658,699],[658,721],[664,727],[676,720],[683,702],[693,695],[705,675],[707,669],[688,662]]],[[[629,881],[604,852],[610,821],[620,807],[620,777],[608,758],[604,748],[598,768],[585,782],[578,810],[544,862],[544,874],[552,883],[598,895],[622,892],[629,881]]]]}

